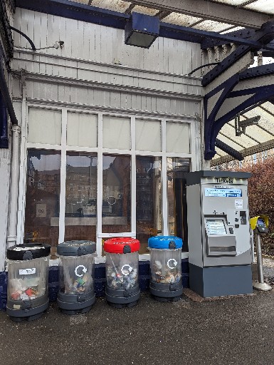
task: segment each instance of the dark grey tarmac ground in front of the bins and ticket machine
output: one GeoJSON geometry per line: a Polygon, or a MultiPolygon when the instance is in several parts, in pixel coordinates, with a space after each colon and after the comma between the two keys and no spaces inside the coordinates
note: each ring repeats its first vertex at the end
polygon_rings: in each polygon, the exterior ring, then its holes
{"type": "Polygon", "coordinates": [[[97,299],[87,314],[51,304],[33,322],[0,312],[0,364],[274,364],[274,290],[194,302],[161,303],[148,293],[114,309],[97,299]]]}

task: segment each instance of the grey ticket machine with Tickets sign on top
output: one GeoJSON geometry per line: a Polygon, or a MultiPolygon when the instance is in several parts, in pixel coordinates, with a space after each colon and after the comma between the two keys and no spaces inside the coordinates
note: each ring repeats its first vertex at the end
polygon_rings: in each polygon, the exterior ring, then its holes
{"type": "Polygon", "coordinates": [[[189,286],[202,297],[253,292],[250,176],[211,170],[186,174],[189,286]]]}

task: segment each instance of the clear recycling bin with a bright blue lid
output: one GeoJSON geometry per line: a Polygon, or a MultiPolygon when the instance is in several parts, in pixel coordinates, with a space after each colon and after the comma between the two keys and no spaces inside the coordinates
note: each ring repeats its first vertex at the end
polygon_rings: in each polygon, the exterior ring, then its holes
{"type": "Polygon", "coordinates": [[[150,282],[149,292],[160,302],[181,299],[181,247],[183,241],[174,236],[149,238],[150,282]]]}

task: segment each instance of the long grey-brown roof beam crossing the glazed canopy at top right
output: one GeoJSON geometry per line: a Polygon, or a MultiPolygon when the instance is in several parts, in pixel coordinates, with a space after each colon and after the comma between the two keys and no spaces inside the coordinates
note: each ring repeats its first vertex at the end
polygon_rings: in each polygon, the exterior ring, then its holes
{"type": "Polygon", "coordinates": [[[195,0],[195,4],[193,0],[137,0],[132,2],[149,8],[174,11],[196,18],[206,18],[251,29],[259,29],[266,21],[274,20],[270,14],[206,0],[195,0]]]}

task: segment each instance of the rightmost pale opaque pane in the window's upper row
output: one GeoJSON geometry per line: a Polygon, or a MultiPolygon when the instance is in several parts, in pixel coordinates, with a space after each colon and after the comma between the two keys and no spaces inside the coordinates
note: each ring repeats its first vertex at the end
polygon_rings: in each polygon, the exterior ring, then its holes
{"type": "Polygon", "coordinates": [[[190,153],[189,123],[167,122],[167,152],[190,153]]]}

